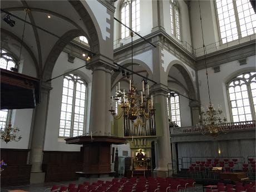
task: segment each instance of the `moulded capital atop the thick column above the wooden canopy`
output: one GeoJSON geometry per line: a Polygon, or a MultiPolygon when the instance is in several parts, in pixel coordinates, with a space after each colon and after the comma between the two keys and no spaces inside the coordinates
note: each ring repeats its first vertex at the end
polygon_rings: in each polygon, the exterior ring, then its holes
{"type": "Polygon", "coordinates": [[[110,58],[98,54],[96,56],[93,56],[92,60],[87,63],[86,68],[87,70],[92,71],[94,71],[97,67],[104,67],[106,70],[112,70],[113,63],[113,60],[111,60],[110,58]]]}

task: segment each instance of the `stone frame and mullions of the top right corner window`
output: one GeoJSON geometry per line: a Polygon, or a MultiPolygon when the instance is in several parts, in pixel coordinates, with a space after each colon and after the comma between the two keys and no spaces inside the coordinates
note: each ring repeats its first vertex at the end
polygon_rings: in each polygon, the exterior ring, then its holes
{"type": "MultiPolygon", "coordinates": [[[[218,9],[217,9],[217,4],[216,3],[217,3],[216,0],[214,0],[215,14],[216,14],[216,20],[217,20],[216,22],[218,24],[218,36],[219,36],[220,45],[228,44],[228,43],[231,43],[233,41],[238,41],[241,38],[245,38],[245,37],[250,36],[250,35],[247,35],[247,36],[242,37],[241,27],[240,27],[239,17],[238,17],[237,2],[236,2],[236,0],[232,0],[233,7],[234,7],[235,23],[237,24],[237,35],[238,35],[238,38],[237,38],[237,40],[227,41],[227,42],[223,43],[223,40],[221,38],[221,33],[220,33],[219,14],[218,14],[218,9]]],[[[255,34],[256,33],[254,32],[252,35],[255,35],[255,34]]],[[[227,39],[227,37],[225,37],[225,38],[227,39]]]]}

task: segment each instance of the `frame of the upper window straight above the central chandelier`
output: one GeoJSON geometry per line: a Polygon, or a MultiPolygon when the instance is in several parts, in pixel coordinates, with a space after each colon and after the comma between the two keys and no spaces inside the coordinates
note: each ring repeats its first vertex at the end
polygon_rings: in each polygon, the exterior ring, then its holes
{"type": "MultiPolygon", "coordinates": [[[[122,0],[122,2],[120,3],[120,6],[119,6],[119,8],[120,8],[120,10],[119,10],[119,18],[120,18],[120,21],[122,21],[122,13],[121,13],[121,11],[122,11],[122,7],[124,6],[124,3],[129,3],[129,26],[128,27],[130,27],[131,29],[132,29],[132,16],[131,16],[131,4],[132,4],[132,1],[140,1],[140,0],[122,0]],[[128,1],[131,1],[131,2],[128,2],[128,1]]],[[[140,3],[141,3],[141,1],[140,1],[140,3]]],[[[141,8],[141,4],[140,4],[140,8],[141,8]]],[[[136,11],[135,11],[136,12],[136,11]]],[[[135,16],[136,17],[136,16],[135,16]]],[[[141,17],[140,17],[141,18],[141,17]]],[[[136,18],[135,18],[135,21],[136,21],[136,18]]],[[[141,22],[140,22],[140,25],[141,25],[141,22]]],[[[119,37],[120,37],[120,40],[127,40],[127,38],[129,38],[130,37],[130,33],[129,33],[129,36],[127,36],[127,37],[124,37],[124,38],[122,38],[122,24],[120,23],[120,25],[119,25],[120,27],[119,27],[119,30],[120,30],[120,34],[119,34],[119,37]]],[[[136,27],[137,25],[136,25],[136,23],[135,23],[135,27],[136,27]]],[[[141,26],[140,26],[141,27],[141,26]]],[[[132,30],[134,30],[134,29],[132,29],[132,30]]],[[[130,31],[130,30],[129,30],[130,31]]],[[[136,31],[136,30],[134,30],[134,31],[136,31]]],[[[140,33],[140,31],[136,31],[136,33],[140,33]]],[[[134,34],[134,36],[135,36],[136,34],[134,34]]]]}

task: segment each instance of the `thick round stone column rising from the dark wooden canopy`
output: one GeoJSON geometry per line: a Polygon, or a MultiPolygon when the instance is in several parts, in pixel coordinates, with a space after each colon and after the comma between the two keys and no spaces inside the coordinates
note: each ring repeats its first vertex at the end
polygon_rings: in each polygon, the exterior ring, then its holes
{"type": "Polygon", "coordinates": [[[89,134],[110,135],[111,72],[102,62],[90,63],[92,96],[89,134]]]}

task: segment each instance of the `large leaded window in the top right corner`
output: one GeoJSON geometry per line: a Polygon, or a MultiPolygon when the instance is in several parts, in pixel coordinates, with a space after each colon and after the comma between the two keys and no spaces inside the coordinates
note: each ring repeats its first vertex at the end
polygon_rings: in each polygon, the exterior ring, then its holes
{"type": "Polygon", "coordinates": [[[256,14],[249,0],[216,0],[216,8],[223,43],[256,32],[256,14]]]}

